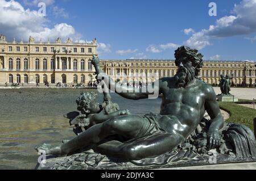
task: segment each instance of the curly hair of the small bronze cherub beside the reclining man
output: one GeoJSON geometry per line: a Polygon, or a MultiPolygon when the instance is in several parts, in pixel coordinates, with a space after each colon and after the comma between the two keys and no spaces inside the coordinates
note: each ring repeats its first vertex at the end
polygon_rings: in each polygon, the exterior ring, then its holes
{"type": "Polygon", "coordinates": [[[82,114],[88,115],[90,113],[90,102],[96,99],[96,92],[83,92],[76,99],[77,110],[82,114]]]}

